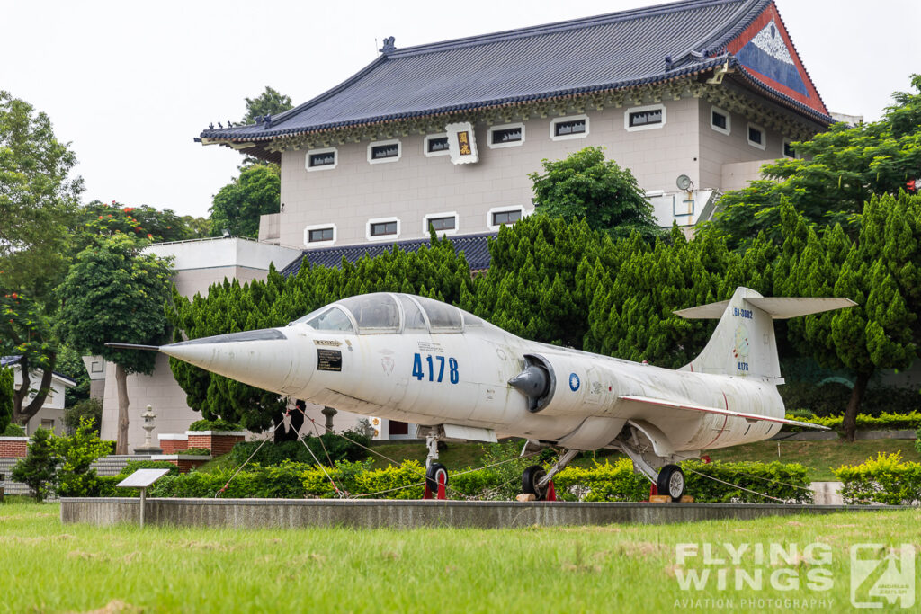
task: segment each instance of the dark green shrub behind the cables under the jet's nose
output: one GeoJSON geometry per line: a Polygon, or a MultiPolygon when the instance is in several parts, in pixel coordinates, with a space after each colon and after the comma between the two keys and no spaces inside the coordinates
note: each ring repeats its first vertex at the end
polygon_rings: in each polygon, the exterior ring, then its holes
{"type": "MultiPolygon", "coordinates": [[[[313,464],[315,462],[313,457],[316,456],[322,464],[332,466],[338,461],[355,462],[367,458],[368,453],[365,447],[371,443],[371,440],[364,434],[354,431],[346,431],[344,434],[361,446],[345,440],[338,434],[327,433],[320,437],[307,435],[302,441],[286,441],[281,444],[266,442],[251,462],[263,466],[280,465],[286,460],[313,464]],[[309,446],[309,450],[304,446],[305,443],[309,446]],[[311,455],[310,452],[313,454],[311,455]]],[[[246,441],[233,446],[230,451],[231,461],[238,466],[242,465],[260,444],[262,442],[246,441]]]]}

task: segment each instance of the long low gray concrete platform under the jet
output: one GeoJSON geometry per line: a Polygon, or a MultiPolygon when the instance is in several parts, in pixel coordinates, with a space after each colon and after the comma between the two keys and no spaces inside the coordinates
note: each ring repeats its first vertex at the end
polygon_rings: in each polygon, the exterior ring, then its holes
{"type": "MultiPolygon", "coordinates": [[[[647,504],[335,499],[147,499],[146,524],[271,527],[511,528],[648,525],[795,514],[898,510],[890,505],[647,504]]],[[[137,498],[63,498],[61,521],[137,524],[137,498]]]]}

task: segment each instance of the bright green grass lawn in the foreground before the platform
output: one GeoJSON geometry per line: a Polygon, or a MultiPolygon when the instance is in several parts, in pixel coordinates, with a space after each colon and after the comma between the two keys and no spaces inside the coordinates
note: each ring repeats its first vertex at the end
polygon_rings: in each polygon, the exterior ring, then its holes
{"type": "Polygon", "coordinates": [[[775,602],[741,599],[795,598],[837,612],[850,609],[850,546],[916,542],[921,521],[912,509],[665,527],[223,530],[62,526],[59,513],[57,504],[0,505],[0,611],[664,612],[687,608],[682,599],[698,611],[769,611],[775,602]],[[771,542],[799,554],[740,563],[765,579],[788,568],[779,587],[682,590],[685,570],[726,567],[701,556],[677,565],[676,544],[689,542],[701,555],[705,543],[771,542]],[[827,545],[828,564],[804,559],[813,542],[827,545]],[[830,585],[810,590],[807,574],[820,568],[830,585]],[[790,576],[799,589],[782,589],[790,576]],[[704,601],[720,598],[724,608],[704,601]]]}

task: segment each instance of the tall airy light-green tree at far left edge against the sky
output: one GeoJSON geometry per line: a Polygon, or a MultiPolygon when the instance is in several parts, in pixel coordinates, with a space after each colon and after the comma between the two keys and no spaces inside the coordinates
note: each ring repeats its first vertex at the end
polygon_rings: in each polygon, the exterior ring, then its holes
{"type": "Polygon", "coordinates": [[[83,190],[75,164],[47,115],[0,90],[0,272],[40,302],[66,269],[65,227],[83,190]]]}

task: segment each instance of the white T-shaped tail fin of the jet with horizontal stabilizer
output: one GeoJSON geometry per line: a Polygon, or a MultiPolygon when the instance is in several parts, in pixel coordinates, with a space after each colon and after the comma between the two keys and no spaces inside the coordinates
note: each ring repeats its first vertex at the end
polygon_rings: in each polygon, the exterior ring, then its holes
{"type": "Polygon", "coordinates": [[[765,298],[749,288],[736,288],[728,301],[675,312],[688,319],[719,319],[704,351],[682,370],[779,379],[775,319],[855,305],[847,298],[765,298]]]}

